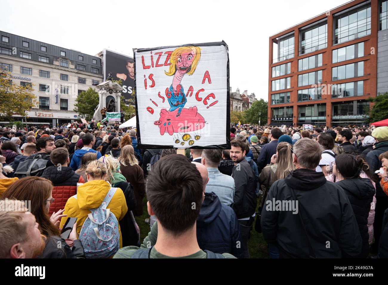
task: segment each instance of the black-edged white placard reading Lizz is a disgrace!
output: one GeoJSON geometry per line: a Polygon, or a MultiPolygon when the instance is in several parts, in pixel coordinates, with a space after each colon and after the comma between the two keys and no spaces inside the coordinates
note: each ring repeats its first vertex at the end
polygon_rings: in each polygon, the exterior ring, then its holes
{"type": "Polygon", "coordinates": [[[230,149],[227,44],[133,49],[139,147],[230,149]]]}

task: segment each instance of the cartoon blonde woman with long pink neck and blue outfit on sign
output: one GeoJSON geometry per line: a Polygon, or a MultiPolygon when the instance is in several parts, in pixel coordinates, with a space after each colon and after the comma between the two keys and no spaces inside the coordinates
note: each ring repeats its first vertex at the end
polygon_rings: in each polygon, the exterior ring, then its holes
{"type": "Polygon", "coordinates": [[[168,72],[165,71],[165,73],[168,76],[174,76],[172,84],[168,89],[168,93],[170,95],[168,103],[170,103],[169,111],[178,109],[176,117],[180,115],[180,112],[187,102],[186,95],[180,81],[182,81],[185,74],[192,75],[194,73],[200,58],[201,48],[194,46],[175,48],[171,54],[170,69],[168,72]]]}

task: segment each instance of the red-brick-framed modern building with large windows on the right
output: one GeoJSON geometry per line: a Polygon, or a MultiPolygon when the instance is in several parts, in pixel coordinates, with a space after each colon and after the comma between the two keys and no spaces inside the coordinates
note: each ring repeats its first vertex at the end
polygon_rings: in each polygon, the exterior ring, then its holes
{"type": "Polygon", "coordinates": [[[271,36],[268,124],[365,124],[388,91],[387,31],[387,0],[355,0],[271,36]]]}

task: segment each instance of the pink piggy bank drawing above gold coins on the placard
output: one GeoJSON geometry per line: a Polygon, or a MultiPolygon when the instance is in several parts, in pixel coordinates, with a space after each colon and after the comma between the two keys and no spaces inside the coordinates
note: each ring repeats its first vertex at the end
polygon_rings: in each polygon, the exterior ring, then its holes
{"type": "Polygon", "coordinates": [[[183,108],[180,116],[177,117],[178,109],[174,111],[162,109],[159,121],[155,121],[154,124],[159,126],[161,135],[164,135],[166,132],[172,136],[173,133],[201,130],[205,126],[206,121],[197,111],[196,106],[189,109],[183,108]]]}

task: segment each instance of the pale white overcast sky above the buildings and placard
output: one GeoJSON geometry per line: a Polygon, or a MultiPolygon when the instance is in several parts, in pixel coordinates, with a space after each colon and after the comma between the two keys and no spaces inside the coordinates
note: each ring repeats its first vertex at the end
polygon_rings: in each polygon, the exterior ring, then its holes
{"type": "Polygon", "coordinates": [[[0,0],[0,30],[90,55],[109,48],[131,57],[132,48],[224,40],[232,90],[268,100],[269,37],[344,3],[0,0]]]}

